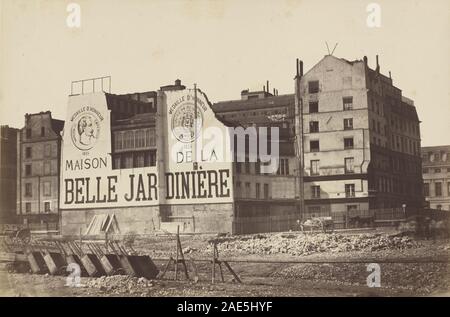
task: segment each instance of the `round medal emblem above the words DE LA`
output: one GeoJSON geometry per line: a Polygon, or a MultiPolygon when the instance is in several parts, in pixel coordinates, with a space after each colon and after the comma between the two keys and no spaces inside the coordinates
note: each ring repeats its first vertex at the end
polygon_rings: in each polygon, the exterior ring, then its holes
{"type": "Polygon", "coordinates": [[[198,137],[203,125],[203,114],[200,111],[200,107],[197,107],[197,115],[195,117],[194,112],[194,104],[187,102],[179,105],[173,113],[172,133],[178,141],[191,143],[198,137]]]}

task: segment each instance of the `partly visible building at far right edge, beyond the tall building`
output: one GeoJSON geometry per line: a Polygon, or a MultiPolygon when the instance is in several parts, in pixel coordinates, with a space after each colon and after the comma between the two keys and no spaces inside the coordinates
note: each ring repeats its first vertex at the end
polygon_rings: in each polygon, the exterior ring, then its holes
{"type": "Polygon", "coordinates": [[[450,145],[422,147],[422,173],[430,208],[450,210],[450,145]]]}

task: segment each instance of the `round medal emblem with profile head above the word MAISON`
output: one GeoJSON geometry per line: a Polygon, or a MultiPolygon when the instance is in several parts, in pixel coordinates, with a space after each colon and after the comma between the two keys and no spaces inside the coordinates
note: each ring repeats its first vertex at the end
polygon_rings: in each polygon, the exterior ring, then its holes
{"type": "Polygon", "coordinates": [[[73,144],[82,151],[90,150],[100,135],[100,120],[89,110],[78,113],[72,120],[71,136],[73,144]]]}

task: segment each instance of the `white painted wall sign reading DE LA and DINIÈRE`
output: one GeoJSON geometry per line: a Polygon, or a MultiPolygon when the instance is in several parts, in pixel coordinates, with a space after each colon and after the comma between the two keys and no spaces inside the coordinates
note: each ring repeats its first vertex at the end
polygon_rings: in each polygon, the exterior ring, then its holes
{"type": "Polygon", "coordinates": [[[233,173],[227,128],[199,89],[165,94],[166,202],[231,202],[233,173]]]}

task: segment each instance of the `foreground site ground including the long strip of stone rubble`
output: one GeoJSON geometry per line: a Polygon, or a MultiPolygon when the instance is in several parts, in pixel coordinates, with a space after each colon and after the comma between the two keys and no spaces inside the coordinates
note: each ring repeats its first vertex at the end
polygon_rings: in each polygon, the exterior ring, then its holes
{"type": "MultiPolygon", "coordinates": [[[[219,259],[229,260],[243,283],[216,266],[211,283],[212,235],[183,235],[186,259],[194,259],[199,280],[178,279],[170,267],[163,279],[129,276],[82,277],[79,287],[66,286],[65,276],[0,270],[2,296],[449,296],[450,241],[444,238],[391,238],[385,233],[274,233],[224,237],[219,259]],[[368,236],[369,235],[369,236],[368,236]],[[375,239],[375,240],[374,240],[375,239]],[[372,241],[373,240],[373,241],[372,241]],[[270,245],[269,245],[270,244],[270,245]],[[297,247],[298,246],[298,247],[297,247]],[[281,263],[280,263],[281,262],[281,263]],[[296,263],[307,262],[307,263],[296,263]],[[311,263],[312,262],[312,263],[311,263]],[[380,287],[368,287],[368,263],[380,266],[380,287]]],[[[152,257],[159,270],[176,256],[173,235],[133,237],[130,243],[152,257]]],[[[193,272],[188,265],[192,279],[193,272]]],[[[161,274],[161,273],[160,273],[161,274]]]]}

